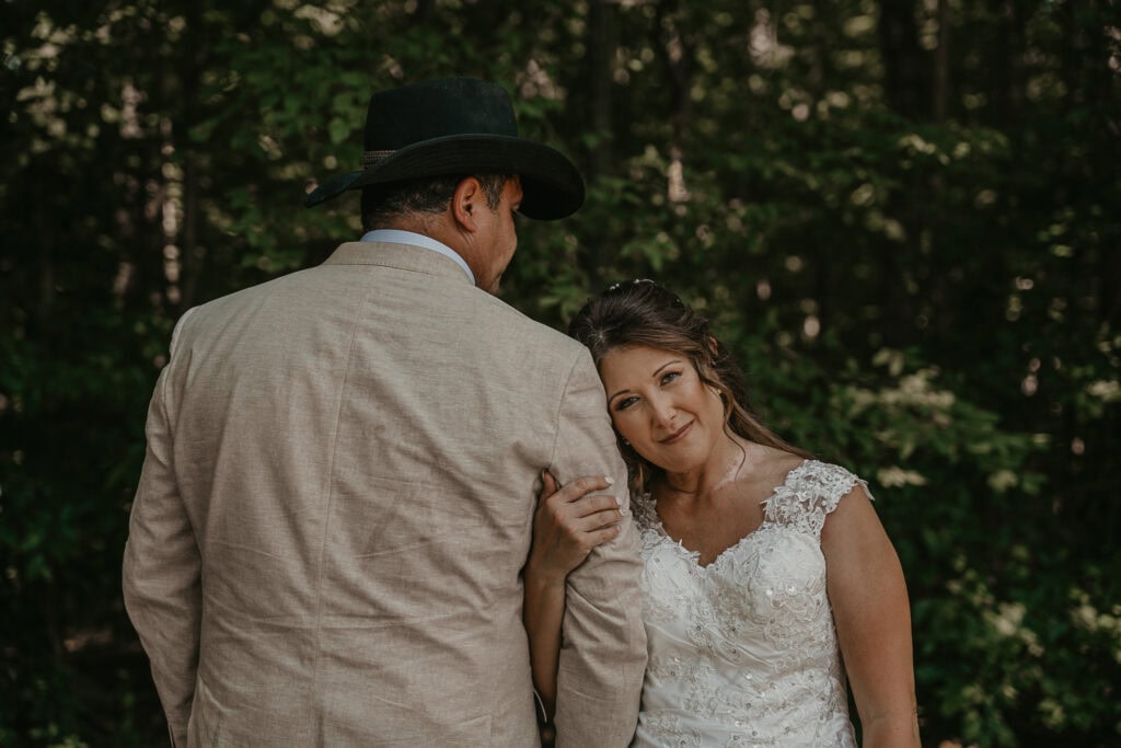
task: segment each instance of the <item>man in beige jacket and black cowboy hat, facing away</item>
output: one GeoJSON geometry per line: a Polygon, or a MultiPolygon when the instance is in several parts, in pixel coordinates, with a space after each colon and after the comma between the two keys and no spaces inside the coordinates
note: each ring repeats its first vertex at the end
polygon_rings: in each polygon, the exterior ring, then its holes
{"type": "MultiPolygon", "coordinates": [[[[148,416],[124,599],[176,746],[536,745],[537,480],[626,469],[586,350],[492,295],[516,211],[583,202],[472,80],[376,93],[360,242],[187,312],[148,416]]],[[[569,578],[557,745],[622,746],[636,534],[569,578]]]]}

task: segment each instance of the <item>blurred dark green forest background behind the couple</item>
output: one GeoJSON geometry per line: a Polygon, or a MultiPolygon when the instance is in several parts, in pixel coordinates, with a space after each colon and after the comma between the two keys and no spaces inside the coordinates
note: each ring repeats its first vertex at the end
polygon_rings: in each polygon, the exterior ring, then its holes
{"type": "Polygon", "coordinates": [[[166,745],[122,611],[189,306],[321,261],[371,91],[494,80],[589,201],[502,296],[652,277],[867,477],[928,746],[1121,744],[1114,0],[0,0],[0,745],[166,745]]]}

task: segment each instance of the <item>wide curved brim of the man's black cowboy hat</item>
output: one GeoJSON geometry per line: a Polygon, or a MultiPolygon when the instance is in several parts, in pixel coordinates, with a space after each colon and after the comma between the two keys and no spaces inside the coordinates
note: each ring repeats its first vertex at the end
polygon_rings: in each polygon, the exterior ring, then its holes
{"type": "Polygon", "coordinates": [[[558,150],[510,136],[460,135],[401,148],[374,166],[328,179],[307,194],[304,205],[319,205],[349,190],[461,174],[519,175],[518,212],[530,219],[563,219],[584,203],[584,179],[558,150]]]}

